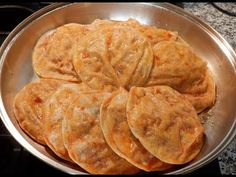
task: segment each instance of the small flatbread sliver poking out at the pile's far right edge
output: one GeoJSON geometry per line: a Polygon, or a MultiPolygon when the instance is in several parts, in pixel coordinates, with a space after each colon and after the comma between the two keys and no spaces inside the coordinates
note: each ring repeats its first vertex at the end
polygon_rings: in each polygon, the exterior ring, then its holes
{"type": "Polygon", "coordinates": [[[212,106],[216,100],[216,86],[210,71],[207,71],[205,80],[202,84],[194,87],[192,90],[189,90],[188,94],[183,95],[194,106],[197,113],[200,113],[206,108],[212,106]],[[205,88],[205,91],[202,91],[202,87],[205,88]]]}

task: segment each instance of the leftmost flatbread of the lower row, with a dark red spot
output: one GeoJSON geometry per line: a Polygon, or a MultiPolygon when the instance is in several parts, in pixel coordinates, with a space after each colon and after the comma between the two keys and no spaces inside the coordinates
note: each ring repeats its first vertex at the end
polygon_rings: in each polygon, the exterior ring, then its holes
{"type": "Polygon", "coordinates": [[[20,127],[35,141],[45,144],[42,114],[46,100],[65,82],[40,79],[29,83],[15,96],[13,109],[20,127]]]}

